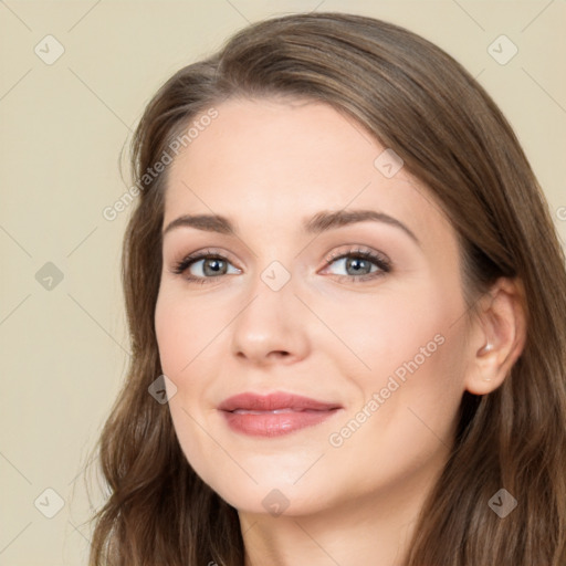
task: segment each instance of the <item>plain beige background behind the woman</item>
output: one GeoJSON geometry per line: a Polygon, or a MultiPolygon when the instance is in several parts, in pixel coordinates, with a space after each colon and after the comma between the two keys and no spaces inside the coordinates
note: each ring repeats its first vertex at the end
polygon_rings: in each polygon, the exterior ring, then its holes
{"type": "Polygon", "coordinates": [[[128,211],[102,211],[127,188],[118,156],[144,105],[248,21],[311,10],[399,23],[463,63],[514,126],[564,242],[564,0],[0,2],[0,565],[86,564],[80,472],[128,358],[128,211]],[[65,50],[51,65],[34,52],[55,53],[48,34],[65,50]],[[518,49],[505,65],[488,52],[501,34],[518,49]],[[63,274],[52,289],[36,279],[48,262],[63,274]],[[64,500],[52,518],[45,489],[64,500]]]}

